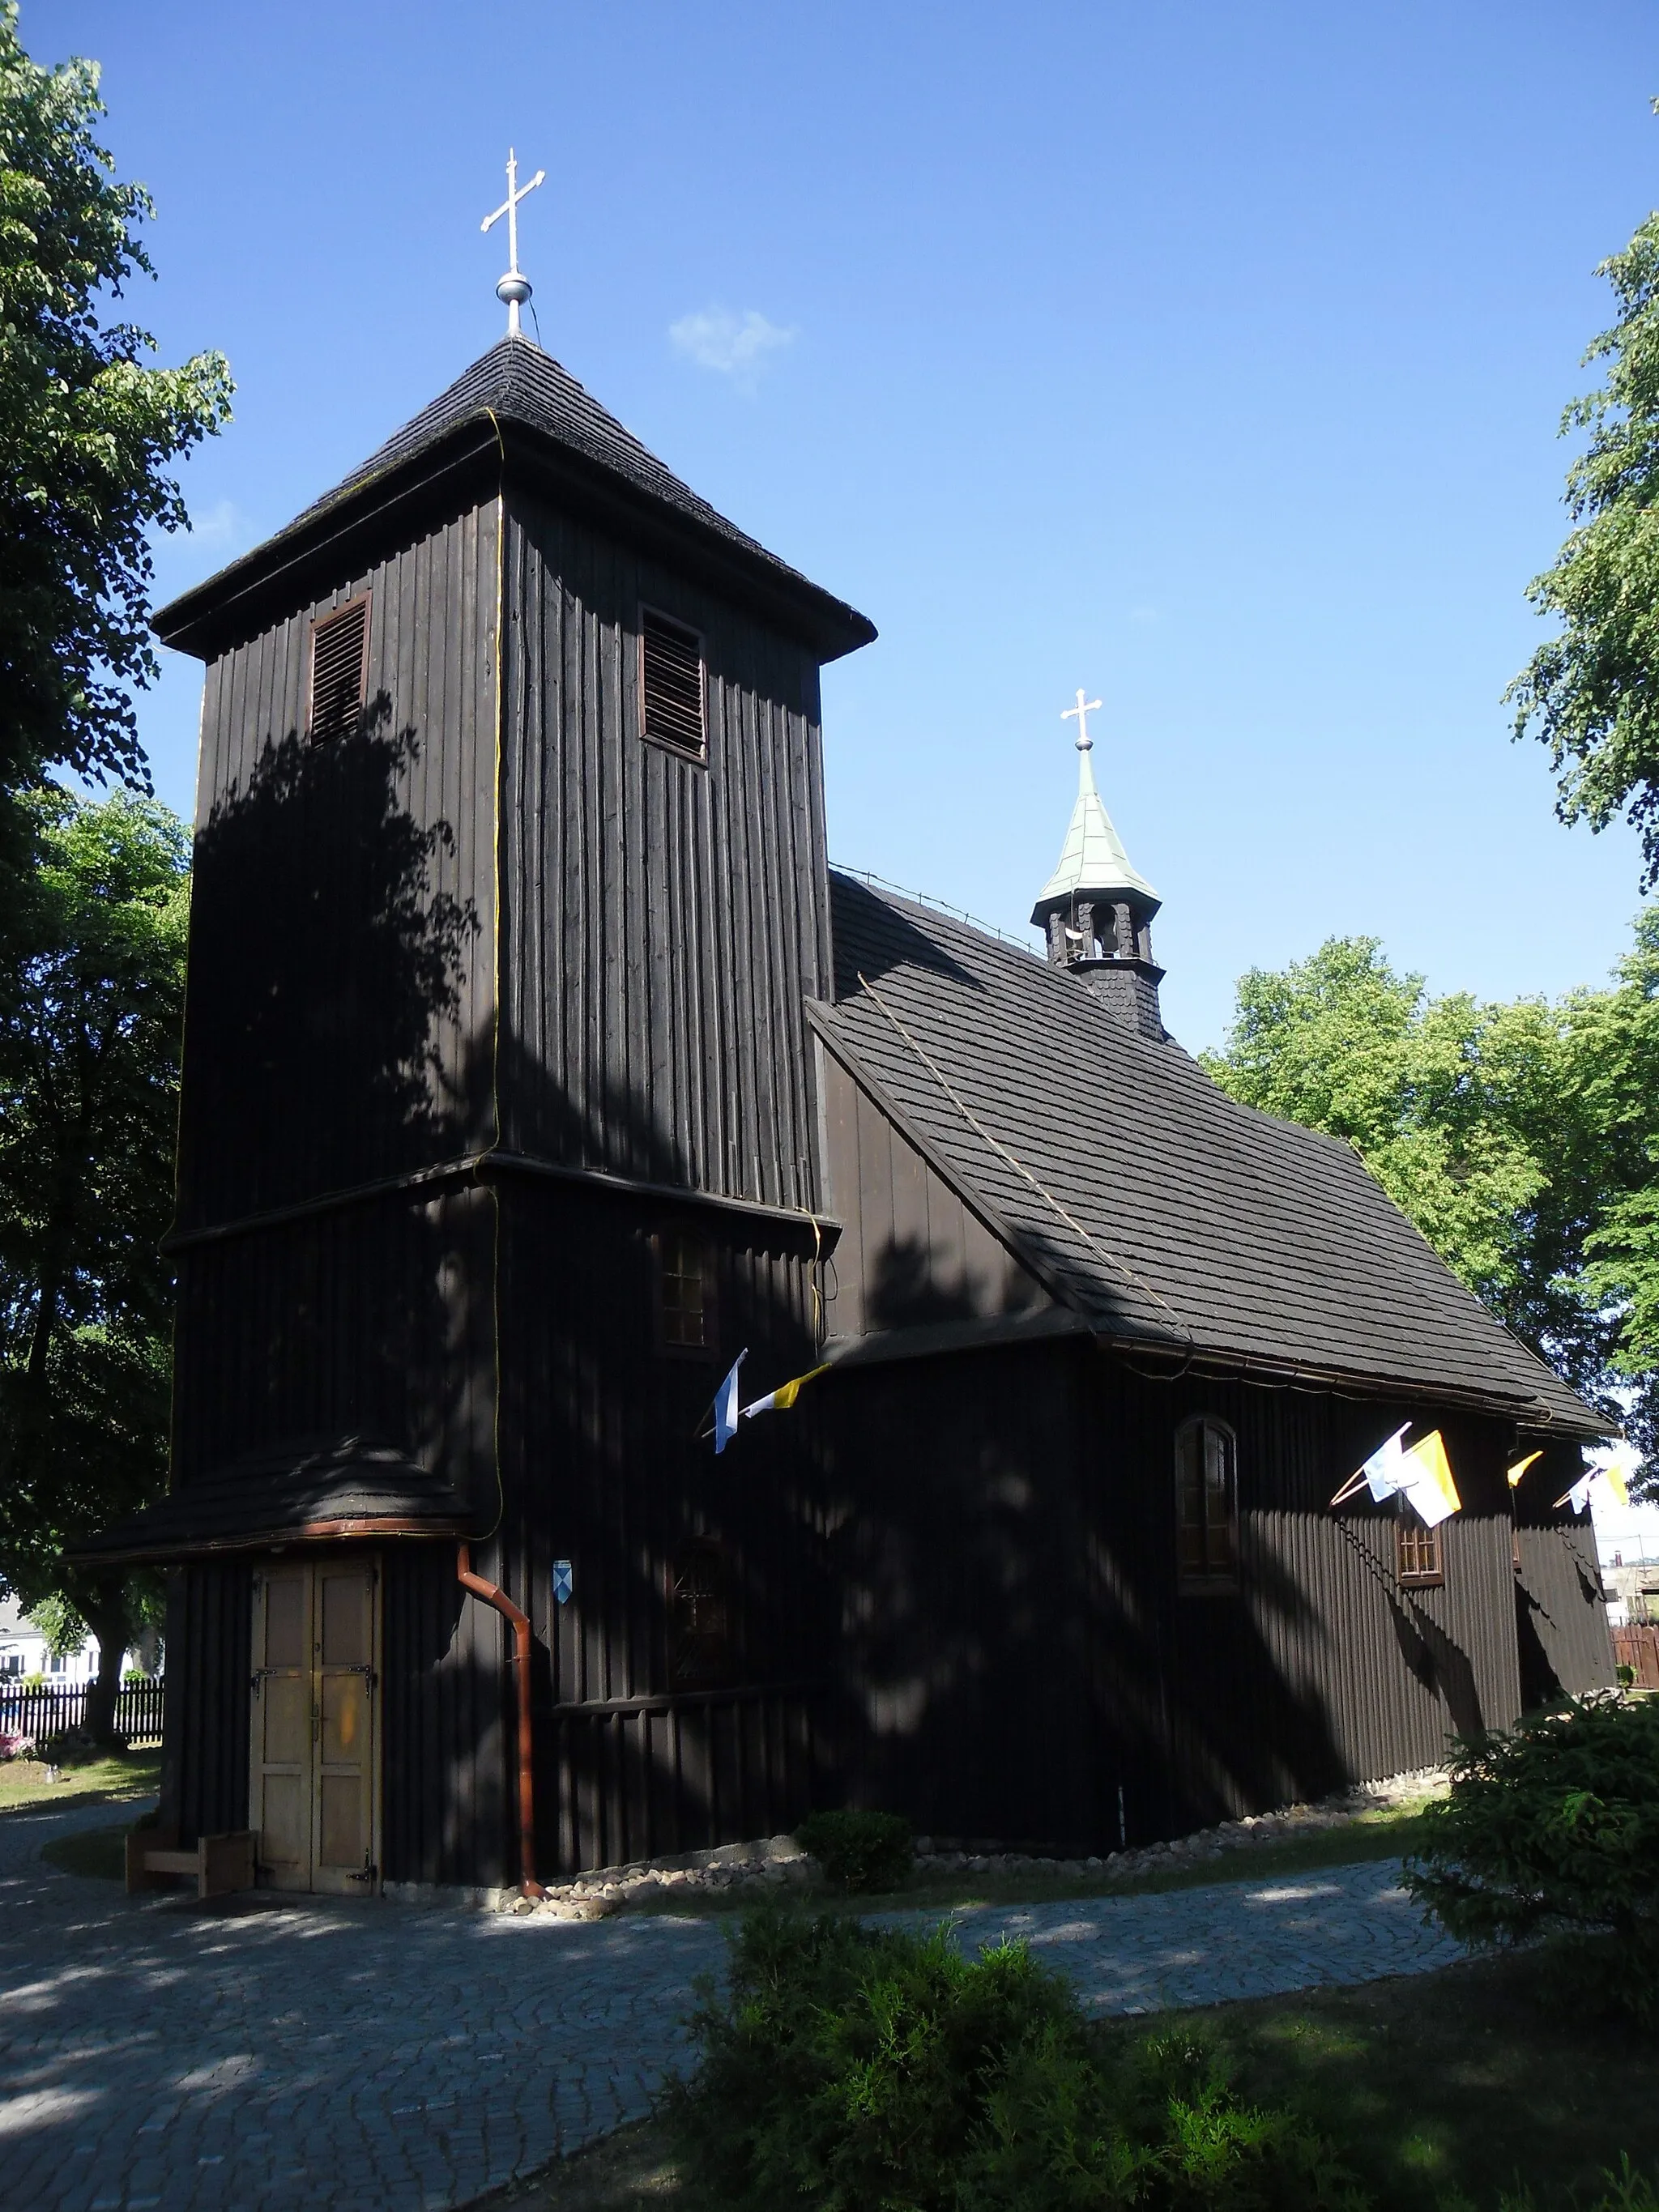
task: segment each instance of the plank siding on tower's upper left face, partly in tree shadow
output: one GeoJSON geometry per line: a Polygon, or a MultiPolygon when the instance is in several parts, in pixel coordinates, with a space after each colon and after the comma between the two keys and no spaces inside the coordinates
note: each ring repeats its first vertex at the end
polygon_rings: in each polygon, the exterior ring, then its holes
{"type": "Polygon", "coordinates": [[[498,504],[208,664],[179,1225],[491,1135],[498,504]],[[310,624],[369,591],[365,728],[305,734],[310,624]]]}

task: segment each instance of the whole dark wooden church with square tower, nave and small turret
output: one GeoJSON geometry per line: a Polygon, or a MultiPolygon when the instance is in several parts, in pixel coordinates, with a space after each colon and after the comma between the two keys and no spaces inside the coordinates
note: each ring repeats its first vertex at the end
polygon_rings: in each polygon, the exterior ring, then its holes
{"type": "Polygon", "coordinates": [[[157,630],[173,1482],[86,1557],[170,1571],[184,1843],[347,1893],[841,1803],[1106,1851],[1610,1679],[1551,1504],[1604,1422],[1166,1035],[1082,717],[1046,958],[832,874],[869,622],[515,334],[157,630]],[[825,1371],[717,1455],[739,1352],[825,1371]],[[1332,1511],[1407,1420],[1462,1511],[1332,1511]]]}

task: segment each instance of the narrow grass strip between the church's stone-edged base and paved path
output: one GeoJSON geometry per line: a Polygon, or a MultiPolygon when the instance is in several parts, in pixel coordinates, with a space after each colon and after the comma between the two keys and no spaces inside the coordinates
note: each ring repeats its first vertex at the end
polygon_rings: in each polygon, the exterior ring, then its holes
{"type": "MultiPolygon", "coordinates": [[[[1287,1874],[1314,1874],[1321,1867],[1354,1867],[1376,1858],[1400,1858],[1413,1851],[1420,1836],[1420,1807],[1360,1814],[1347,1827],[1292,1836],[1285,1843],[1254,1843],[1219,1858],[1194,1860],[1130,1874],[918,1874],[902,1889],[878,1896],[834,1896],[812,1891],[814,1911],[891,1913],[891,1911],[964,1911],[973,1905],[1064,1905],[1071,1898],[1146,1898],[1168,1889],[1210,1889],[1217,1882],[1265,1882],[1287,1874]]],[[[787,1893],[787,1891],[785,1891],[787,1893]]],[[[754,1905],[752,1889],[657,1889],[630,1900],[630,1913],[737,1913],[754,1905]]]]}

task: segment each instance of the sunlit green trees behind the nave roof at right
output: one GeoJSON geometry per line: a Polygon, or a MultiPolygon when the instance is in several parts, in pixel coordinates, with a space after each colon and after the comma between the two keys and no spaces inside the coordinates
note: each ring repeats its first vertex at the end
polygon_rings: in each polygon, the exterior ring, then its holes
{"type": "Polygon", "coordinates": [[[1659,1447],[1659,909],[1610,991],[1431,998],[1374,938],[1252,969],[1232,1097],[1347,1137],[1447,1265],[1577,1389],[1635,1391],[1659,1447]],[[1646,1241],[1644,1241],[1646,1239],[1646,1241]]]}

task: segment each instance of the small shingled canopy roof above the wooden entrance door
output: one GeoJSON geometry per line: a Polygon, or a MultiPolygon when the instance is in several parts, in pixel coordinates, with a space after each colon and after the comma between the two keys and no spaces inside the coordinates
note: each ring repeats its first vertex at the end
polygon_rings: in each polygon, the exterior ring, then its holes
{"type": "Polygon", "coordinates": [[[465,1526],[467,1500],[392,1444],[296,1438],[181,1484],[144,1513],[100,1528],[73,1557],[88,1566],[192,1559],[314,1537],[445,1537],[465,1526]]]}

